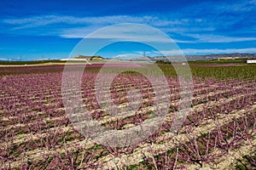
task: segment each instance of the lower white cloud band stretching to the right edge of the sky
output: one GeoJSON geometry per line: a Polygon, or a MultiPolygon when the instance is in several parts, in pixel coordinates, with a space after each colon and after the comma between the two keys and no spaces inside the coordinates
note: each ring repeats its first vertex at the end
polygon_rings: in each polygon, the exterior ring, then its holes
{"type": "MultiPolygon", "coordinates": [[[[98,27],[100,28],[100,27],[98,27]]],[[[62,31],[61,37],[67,38],[84,38],[85,35],[90,34],[95,31],[97,28],[95,26],[83,27],[83,28],[73,28],[66,29],[62,31]]],[[[145,42],[166,42],[164,39],[160,39],[159,35],[155,34],[146,34],[147,31],[134,30],[130,32],[123,32],[121,29],[113,29],[105,33],[100,33],[94,35],[92,38],[126,38],[127,40],[137,40],[144,39],[145,42]]],[[[172,34],[168,35],[174,42],[183,42],[183,43],[198,43],[198,42],[246,42],[246,41],[255,41],[256,37],[226,37],[220,35],[212,34],[187,34],[181,33],[179,36],[172,37],[172,34]],[[187,39],[185,39],[185,38],[187,39]],[[191,40],[192,39],[192,40],[191,40]]],[[[169,42],[169,41],[167,41],[169,42]]]]}

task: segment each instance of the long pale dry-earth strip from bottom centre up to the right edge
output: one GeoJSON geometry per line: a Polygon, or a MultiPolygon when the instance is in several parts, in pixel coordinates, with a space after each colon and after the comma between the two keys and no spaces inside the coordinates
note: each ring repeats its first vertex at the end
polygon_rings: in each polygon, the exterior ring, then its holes
{"type": "MultiPolygon", "coordinates": [[[[249,110],[255,111],[256,105],[253,105],[249,110]]],[[[247,110],[248,111],[248,110],[247,110]]],[[[235,113],[232,113],[230,115],[223,116],[222,119],[219,119],[218,122],[221,125],[224,125],[227,122],[232,121],[234,117],[240,118],[245,116],[245,110],[236,111],[235,113]]],[[[206,133],[209,131],[212,131],[214,128],[216,128],[217,125],[215,122],[211,122],[203,127],[195,127],[195,130],[193,133],[189,133],[189,135],[200,137],[201,133],[206,133]]],[[[140,145],[139,148],[134,150],[133,153],[130,155],[122,154],[119,157],[113,157],[113,156],[104,156],[99,161],[104,162],[103,163],[103,169],[115,169],[116,167],[122,168],[122,167],[128,167],[131,165],[136,165],[140,161],[143,161],[143,156],[151,157],[151,153],[148,150],[152,150],[152,153],[157,152],[160,154],[161,152],[167,151],[172,149],[176,144],[188,142],[189,138],[187,134],[178,134],[175,135],[173,133],[166,134],[168,138],[165,138],[166,144],[143,144],[140,145]],[[171,140],[167,140],[171,139],[171,140]]]]}

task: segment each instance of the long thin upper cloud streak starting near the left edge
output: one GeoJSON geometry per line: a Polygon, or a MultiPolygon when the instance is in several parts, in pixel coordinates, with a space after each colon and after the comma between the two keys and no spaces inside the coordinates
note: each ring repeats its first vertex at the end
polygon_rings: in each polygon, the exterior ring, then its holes
{"type": "Polygon", "coordinates": [[[185,20],[167,20],[157,16],[130,16],[130,15],[113,15],[100,17],[73,17],[73,16],[58,16],[58,15],[44,15],[35,16],[24,19],[8,19],[3,20],[4,23],[10,25],[17,25],[15,29],[24,29],[38,26],[47,26],[56,23],[65,23],[69,25],[100,25],[108,26],[118,23],[143,23],[150,26],[172,26],[180,25],[185,20]]]}

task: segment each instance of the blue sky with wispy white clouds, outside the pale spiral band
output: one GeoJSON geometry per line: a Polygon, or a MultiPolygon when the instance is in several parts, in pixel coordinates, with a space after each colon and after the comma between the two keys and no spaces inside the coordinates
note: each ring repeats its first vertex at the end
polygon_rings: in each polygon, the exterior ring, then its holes
{"type": "MultiPolygon", "coordinates": [[[[183,54],[256,53],[255,21],[256,0],[2,0],[0,59],[67,58],[87,34],[119,23],[153,26],[177,42],[183,54]]],[[[148,50],[129,46],[119,54],[148,50]]],[[[108,48],[108,56],[116,47],[108,48]]]]}

